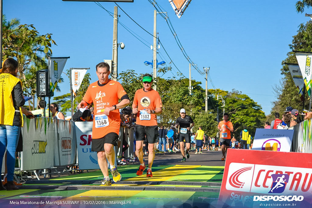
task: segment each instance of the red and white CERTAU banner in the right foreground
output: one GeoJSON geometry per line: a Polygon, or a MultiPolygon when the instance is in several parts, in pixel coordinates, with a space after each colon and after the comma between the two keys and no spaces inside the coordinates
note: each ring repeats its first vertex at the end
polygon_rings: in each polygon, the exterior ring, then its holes
{"type": "Polygon", "coordinates": [[[228,149],[218,204],[310,207],[312,154],[228,149]]]}

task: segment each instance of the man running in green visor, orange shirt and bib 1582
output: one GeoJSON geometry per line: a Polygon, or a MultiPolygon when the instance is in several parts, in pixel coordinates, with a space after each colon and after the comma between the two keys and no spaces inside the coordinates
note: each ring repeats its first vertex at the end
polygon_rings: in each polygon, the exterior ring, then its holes
{"type": "Polygon", "coordinates": [[[143,76],[143,89],[135,92],[132,103],[132,113],[137,114],[135,137],[136,137],[136,154],[140,161],[140,167],[137,175],[141,176],[146,166],[143,162],[143,143],[145,136],[148,142],[149,165],[146,177],[153,177],[152,165],[155,157],[154,143],[158,135],[157,114],[161,114],[163,104],[158,92],[152,89],[153,77],[150,74],[143,76]]]}

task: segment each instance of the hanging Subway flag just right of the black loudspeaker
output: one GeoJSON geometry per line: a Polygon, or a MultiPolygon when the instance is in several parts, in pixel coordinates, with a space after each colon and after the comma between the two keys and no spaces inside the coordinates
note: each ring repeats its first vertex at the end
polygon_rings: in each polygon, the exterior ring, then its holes
{"type": "Polygon", "coordinates": [[[61,78],[66,61],[69,57],[49,58],[49,73],[50,73],[50,90],[54,92],[58,80],[61,78]]]}

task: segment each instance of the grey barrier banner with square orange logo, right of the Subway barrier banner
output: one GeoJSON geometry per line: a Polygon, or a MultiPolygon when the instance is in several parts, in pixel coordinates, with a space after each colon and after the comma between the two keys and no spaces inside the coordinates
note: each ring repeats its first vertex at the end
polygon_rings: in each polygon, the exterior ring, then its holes
{"type": "Polygon", "coordinates": [[[74,122],[54,119],[54,123],[55,126],[57,125],[56,137],[54,139],[54,166],[74,164],[76,162],[74,122]]]}

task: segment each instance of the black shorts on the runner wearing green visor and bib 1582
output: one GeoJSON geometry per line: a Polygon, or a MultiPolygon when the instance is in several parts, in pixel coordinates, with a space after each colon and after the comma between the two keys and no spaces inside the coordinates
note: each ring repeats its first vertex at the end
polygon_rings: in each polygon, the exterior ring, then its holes
{"type": "Polygon", "coordinates": [[[136,125],[135,127],[135,138],[137,141],[144,141],[145,135],[147,138],[147,142],[149,144],[156,143],[156,139],[158,136],[158,126],[141,126],[136,125]]]}

